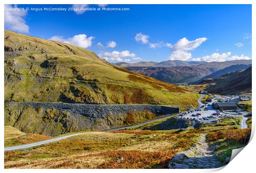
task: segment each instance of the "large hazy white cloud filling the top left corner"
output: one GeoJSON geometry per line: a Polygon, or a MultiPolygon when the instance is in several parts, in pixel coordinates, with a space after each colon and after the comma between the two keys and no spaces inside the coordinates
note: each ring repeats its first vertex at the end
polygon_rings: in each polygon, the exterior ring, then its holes
{"type": "Polygon", "coordinates": [[[17,5],[5,5],[5,25],[10,30],[15,30],[21,33],[28,33],[28,25],[26,25],[25,17],[28,14],[26,10],[10,11],[10,8],[17,8],[17,5]]]}

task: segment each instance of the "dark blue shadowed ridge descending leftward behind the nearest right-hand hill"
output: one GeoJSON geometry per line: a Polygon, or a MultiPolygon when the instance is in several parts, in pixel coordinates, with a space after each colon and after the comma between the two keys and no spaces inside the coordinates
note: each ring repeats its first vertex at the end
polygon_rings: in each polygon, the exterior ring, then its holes
{"type": "Polygon", "coordinates": [[[245,64],[237,64],[237,65],[231,65],[229,67],[226,67],[222,70],[218,70],[216,72],[213,72],[211,75],[207,75],[202,77],[201,79],[199,79],[196,82],[191,82],[190,84],[199,84],[203,79],[208,79],[208,78],[218,78],[222,75],[225,75],[226,73],[230,73],[230,72],[234,72],[234,71],[238,71],[238,70],[245,70],[247,68],[251,67],[251,64],[249,65],[245,65],[245,64]]]}

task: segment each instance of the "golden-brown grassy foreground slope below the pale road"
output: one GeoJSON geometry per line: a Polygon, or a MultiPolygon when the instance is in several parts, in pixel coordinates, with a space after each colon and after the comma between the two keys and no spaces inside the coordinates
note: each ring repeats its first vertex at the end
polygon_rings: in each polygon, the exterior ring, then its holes
{"type": "Polygon", "coordinates": [[[211,145],[220,145],[216,152],[221,161],[230,157],[232,149],[243,146],[223,138],[227,129],[240,130],[239,119],[223,119],[221,123],[186,131],[139,130],[150,129],[163,121],[138,129],[74,136],[28,152],[5,152],[5,168],[167,168],[169,159],[194,145],[200,133],[208,134],[211,145]],[[116,158],[120,156],[123,161],[118,164],[116,158]]]}

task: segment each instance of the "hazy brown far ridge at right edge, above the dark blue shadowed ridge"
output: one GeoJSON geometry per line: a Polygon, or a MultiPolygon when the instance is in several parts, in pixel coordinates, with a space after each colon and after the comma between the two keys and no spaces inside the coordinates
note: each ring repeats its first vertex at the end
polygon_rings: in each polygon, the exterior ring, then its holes
{"type": "Polygon", "coordinates": [[[200,65],[196,65],[199,68],[207,68],[211,72],[216,72],[218,70],[224,69],[226,67],[229,67],[231,65],[250,65],[251,60],[233,60],[233,61],[223,61],[223,62],[209,62],[209,63],[204,63],[200,65]]]}

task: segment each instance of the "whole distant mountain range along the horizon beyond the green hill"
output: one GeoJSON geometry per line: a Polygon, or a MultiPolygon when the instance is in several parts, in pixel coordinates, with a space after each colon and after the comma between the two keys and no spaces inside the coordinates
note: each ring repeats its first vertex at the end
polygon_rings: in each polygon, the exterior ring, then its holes
{"type": "Polygon", "coordinates": [[[198,84],[206,78],[215,78],[227,72],[247,69],[251,60],[234,60],[224,62],[205,61],[162,61],[138,63],[112,63],[127,70],[139,72],[164,82],[173,84],[198,84]]]}

